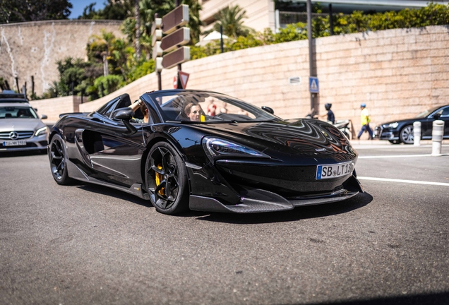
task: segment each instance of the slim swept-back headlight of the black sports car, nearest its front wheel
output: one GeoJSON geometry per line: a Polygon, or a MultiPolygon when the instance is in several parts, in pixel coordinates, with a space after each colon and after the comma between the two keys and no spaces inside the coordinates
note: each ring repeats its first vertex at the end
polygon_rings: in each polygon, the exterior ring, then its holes
{"type": "Polygon", "coordinates": [[[205,137],[203,148],[211,161],[217,157],[270,157],[263,152],[220,138],[205,137]]]}

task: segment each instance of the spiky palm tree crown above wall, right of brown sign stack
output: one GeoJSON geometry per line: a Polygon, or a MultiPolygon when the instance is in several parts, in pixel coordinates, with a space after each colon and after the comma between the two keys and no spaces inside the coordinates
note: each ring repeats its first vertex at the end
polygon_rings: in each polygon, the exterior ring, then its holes
{"type": "Polygon", "coordinates": [[[253,29],[244,25],[244,18],[247,18],[246,11],[239,5],[223,8],[215,14],[214,18],[217,22],[213,29],[220,31],[220,25],[222,25],[223,34],[229,37],[237,38],[254,32],[253,29]]]}

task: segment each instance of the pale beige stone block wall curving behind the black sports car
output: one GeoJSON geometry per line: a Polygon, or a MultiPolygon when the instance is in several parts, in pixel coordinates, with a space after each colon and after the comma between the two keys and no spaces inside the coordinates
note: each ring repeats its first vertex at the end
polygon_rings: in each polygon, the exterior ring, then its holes
{"type": "MultiPolygon", "coordinates": [[[[309,45],[306,40],[272,44],[209,56],[182,65],[189,89],[222,92],[275,109],[284,118],[310,109],[309,45]],[[289,77],[300,76],[299,85],[289,77]]],[[[449,26],[384,30],[316,40],[320,81],[318,110],[332,103],[336,119],[351,119],[358,130],[361,102],[371,112],[371,126],[414,116],[449,104],[449,26]]],[[[162,88],[173,88],[176,68],[162,71],[162,88]]],[[[97,109],[123,92],[131,99],[157,88],[152,73],[101,100],[80,104],[97,109]]]]}

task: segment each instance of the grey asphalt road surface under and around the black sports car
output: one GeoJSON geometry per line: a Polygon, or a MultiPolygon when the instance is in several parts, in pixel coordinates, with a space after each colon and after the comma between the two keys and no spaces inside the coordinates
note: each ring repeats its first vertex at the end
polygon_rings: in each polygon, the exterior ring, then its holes
{"type": "Polygon", "coordinates": [[[356,148],[347,201],[177,217],[1,155],[0,304],[449,304],[449,146],[356,148]]]}

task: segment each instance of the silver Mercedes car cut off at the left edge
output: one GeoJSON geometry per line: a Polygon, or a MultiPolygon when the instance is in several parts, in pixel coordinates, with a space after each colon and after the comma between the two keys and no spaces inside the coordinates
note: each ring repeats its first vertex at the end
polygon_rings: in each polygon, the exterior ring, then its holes
{"type": "MultiPolygon", "coordinates": [[[[47,116],[42,115],[42,119],[47,116]]],[[[0,102],[0,152],[47,152],[48,128],[28,102],[0,102]]]]}

